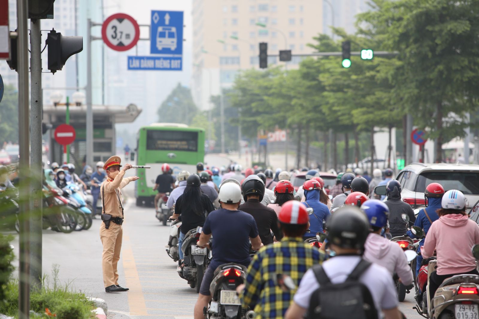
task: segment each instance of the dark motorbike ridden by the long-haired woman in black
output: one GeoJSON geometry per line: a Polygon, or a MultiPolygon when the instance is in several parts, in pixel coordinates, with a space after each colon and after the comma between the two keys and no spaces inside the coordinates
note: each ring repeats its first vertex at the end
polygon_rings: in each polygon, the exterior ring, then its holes
{"type": "Polygon", "coordinates": [[[200,239],[203,227],[197,227],[186,233],[182,243],[183,268],[178,270],[178,275],[188,281],[196,292],[200,292],[201,282],[206,268],[211,260],[211,251],[206,247],[198,247],[196,242],[200,239]]]}

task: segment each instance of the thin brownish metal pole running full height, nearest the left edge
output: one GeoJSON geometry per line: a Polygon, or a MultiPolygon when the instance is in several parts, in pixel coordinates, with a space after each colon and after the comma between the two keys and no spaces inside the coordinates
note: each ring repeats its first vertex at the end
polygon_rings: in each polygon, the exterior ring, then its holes
{"type": "Polygon", "coordinates": [[[19,319],[30,318],[30,121],[28,82],[28,1],[17,1],[18,25],[18,137],[20,173],[19,319]]]}

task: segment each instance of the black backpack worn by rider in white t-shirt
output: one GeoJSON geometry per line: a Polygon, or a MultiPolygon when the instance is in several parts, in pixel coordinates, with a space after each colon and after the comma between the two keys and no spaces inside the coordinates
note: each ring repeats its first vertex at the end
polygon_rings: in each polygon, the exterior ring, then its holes
{"type": "Polygon", "coordinates": [[[361,259],[341,284],[332,284],[321,265],[313,266],[319,288],[309,300],[308,319],[377,319],[377,310],[369,289],[359,277],[371,265],[361,259]]]}

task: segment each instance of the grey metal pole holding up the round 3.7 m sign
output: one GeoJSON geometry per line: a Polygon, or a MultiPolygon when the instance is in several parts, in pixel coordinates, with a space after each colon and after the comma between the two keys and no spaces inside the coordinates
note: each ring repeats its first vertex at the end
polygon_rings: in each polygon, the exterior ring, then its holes
{"type": "Polygon", "coordinates": [[[93,110],[91,97],[91,19],[87,22],[87,88],[86,88],[86,102],[87,102],[87,127],[86,127],[86,164],[93,165],[93,110]]]}

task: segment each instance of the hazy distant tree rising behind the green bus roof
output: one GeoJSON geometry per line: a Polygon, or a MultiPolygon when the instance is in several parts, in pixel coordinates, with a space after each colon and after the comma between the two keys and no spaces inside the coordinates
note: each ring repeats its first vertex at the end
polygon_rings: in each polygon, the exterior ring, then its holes
{"type": "Polygon", "coordinates": [[[170,95],[161,103],[158,109],[160,122],[190,124],[197,112],[196,105],[191,96],[191,90],[180,83],[170,95]]]}

